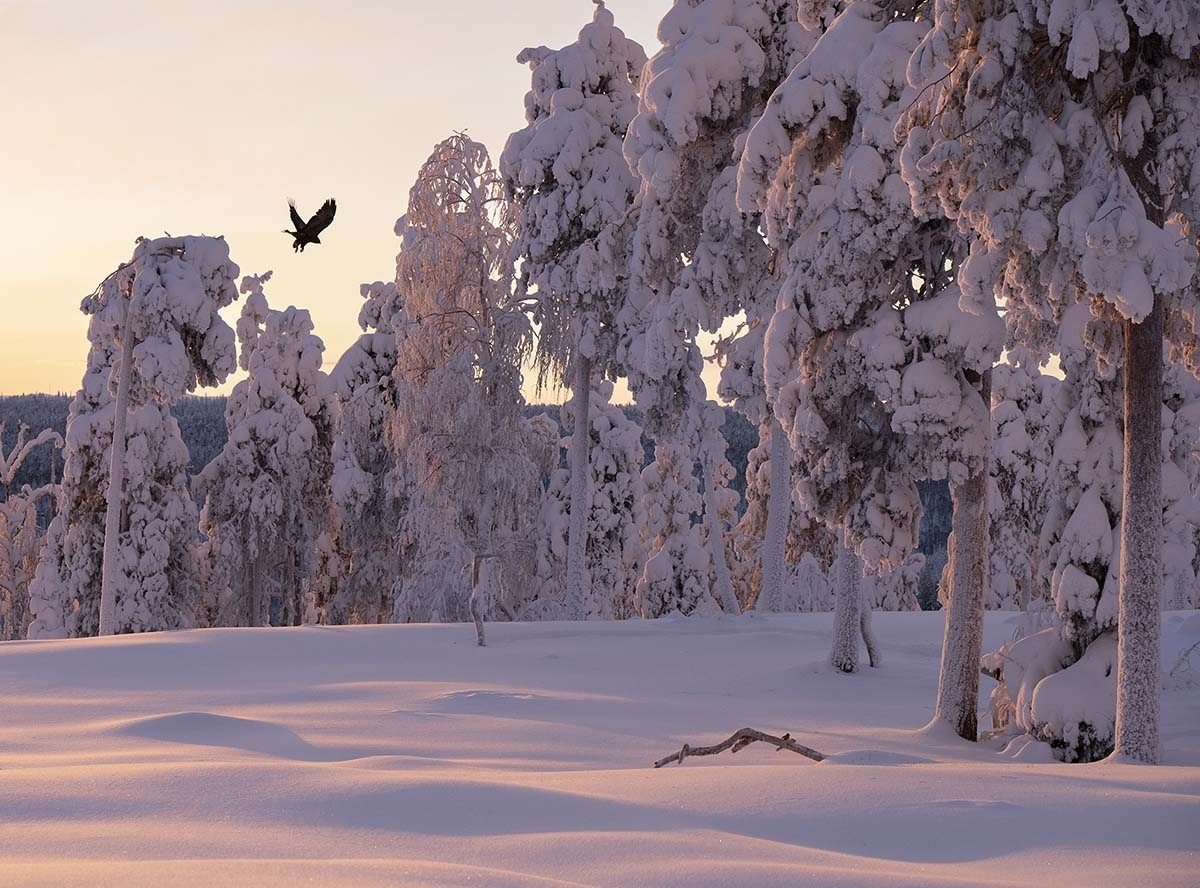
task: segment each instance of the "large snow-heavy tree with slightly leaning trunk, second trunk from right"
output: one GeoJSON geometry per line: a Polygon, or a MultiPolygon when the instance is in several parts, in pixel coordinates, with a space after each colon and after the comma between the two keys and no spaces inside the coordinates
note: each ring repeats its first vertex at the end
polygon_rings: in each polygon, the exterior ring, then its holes
{"type": "Polygon", "coordinates": [[[960,305],[961,241],[947,223],[914,217],[900,178],[892,132],[918,97],[905,72],[928,24],[872,2],[833,17],[800,11],[826,30],[751,130],[738,180],[739,206],[761,214],[782,263],[767,394],[797,451],[803,502],[845,527],[869,570],[902,565],[914,550],[916,481],[950,480],[960,593],[935,720],[973,739],[988,371],[1003,326],[994,300],[960,305]]]}

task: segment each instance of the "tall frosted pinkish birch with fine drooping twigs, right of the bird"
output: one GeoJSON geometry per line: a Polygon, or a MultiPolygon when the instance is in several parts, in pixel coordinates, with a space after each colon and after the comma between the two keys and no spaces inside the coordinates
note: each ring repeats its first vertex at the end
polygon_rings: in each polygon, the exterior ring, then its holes
{"type": "Polygon", "coordinates": [[[532,331],[511,295],[516,214],[487,149],[455,134],[421,167],[396,222],[403,318],[389,445],[407,503],[396,617],[469,610],[480,644],[494,599],[514,601],[532,572],[542,496],[522,415],[532,331]]]}

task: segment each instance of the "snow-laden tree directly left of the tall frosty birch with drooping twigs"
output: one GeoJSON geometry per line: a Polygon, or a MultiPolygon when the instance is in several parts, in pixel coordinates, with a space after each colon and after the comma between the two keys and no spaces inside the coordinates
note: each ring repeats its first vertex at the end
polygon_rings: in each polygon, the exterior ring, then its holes
{"type": "Polygon", "coordinates": [[[330,372],[338,410],[334,422],[334,551],[336,570],[318,571],[326,623],[386,623],[401,574],[397,454],[388,446],[396,425],[396,328],[403,322],[394,281],[362,284],[362,334],[330,372]]]}

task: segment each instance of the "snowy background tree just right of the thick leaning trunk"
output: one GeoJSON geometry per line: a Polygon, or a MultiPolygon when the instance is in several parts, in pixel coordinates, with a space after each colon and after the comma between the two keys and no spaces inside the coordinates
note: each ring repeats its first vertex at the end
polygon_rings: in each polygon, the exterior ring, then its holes
{"type": "Polygon", "coordinates": [[[1054,400],[1057,378],[1038,368],[1025,349],[1008,353],[992,370],[991,390],[991,593],[994,610],[1026,610],[1049,596],[1039,582],[1038,536],[1048,503],[1050,458],[1058,437],[1054,400]]]}

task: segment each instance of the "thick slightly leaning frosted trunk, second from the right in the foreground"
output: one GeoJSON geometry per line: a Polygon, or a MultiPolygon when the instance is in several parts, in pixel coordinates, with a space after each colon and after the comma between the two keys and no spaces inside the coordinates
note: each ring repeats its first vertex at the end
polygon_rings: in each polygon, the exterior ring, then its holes
{"type": "MultiPolygon", "coordinates": [[[[978,413],[984,430],[984,452],[991,452],[991,371],[979,377],[978,413]]],[[[961,485],[950,485],[954,515],[950,523],[950,590],[946,605],[946,638],[937,683],[934,721],[944,721],[966,739],[979,738],[979,658],[983,654],[983,608],[988,600],[988,466],[961,485]]]]}

